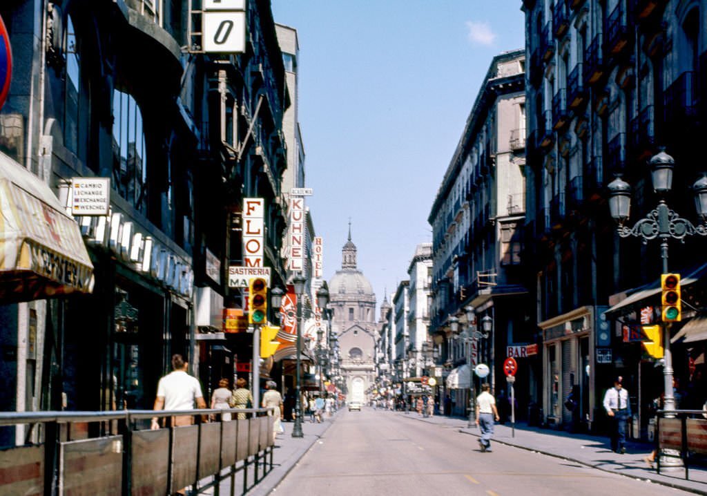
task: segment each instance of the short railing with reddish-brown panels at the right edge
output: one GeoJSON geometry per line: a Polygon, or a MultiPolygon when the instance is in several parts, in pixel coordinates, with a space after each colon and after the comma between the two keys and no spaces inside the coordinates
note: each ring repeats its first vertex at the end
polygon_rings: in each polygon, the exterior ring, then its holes
{"type": "MultiPolygon", "coordinates": [[[[691,461],[707,460],[707,413],[705,410],[658,410],[655,426],[655,440],[658,452],[679,451],[679,458],[685,468],[685,479],[689,478],[691,461]]],[[[656,456],[656,471],[660,474],[660,458],[670,456],[663,452],[656,456]]]]}

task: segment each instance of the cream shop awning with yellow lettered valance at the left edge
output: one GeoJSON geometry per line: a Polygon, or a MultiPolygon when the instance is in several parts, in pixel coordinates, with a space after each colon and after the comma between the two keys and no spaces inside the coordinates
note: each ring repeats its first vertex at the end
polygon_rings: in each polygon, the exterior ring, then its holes
{"type": "Polygon", "coordinates": [[[78,224],[40,178],[0,153],[0,301],[92,291],[78,224]]]}

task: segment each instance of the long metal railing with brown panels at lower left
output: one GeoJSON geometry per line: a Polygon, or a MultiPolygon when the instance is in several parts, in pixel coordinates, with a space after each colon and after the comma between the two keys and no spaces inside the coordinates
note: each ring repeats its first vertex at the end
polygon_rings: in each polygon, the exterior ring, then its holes
{"type": "Polygon", "coordinates": [[[230,479],[233,495],[240,472],[245,493],[273,467],[276,417],[267,413],[267,408],[1,412],[0,426],[29,425],[27,439],[39,439],[0,451],[0,475],[13,474],[3,478],[2,489],[45,496],[181,489],[194,495],[211,489],[218,496],[221,482],[230,479]],[[243,418],[228,420],[224,414],[243,418]],[[216,420],[209,422],[210,416],[216,420]],[[151,429],[153,417],[165,427],[151,429]],[[191,419],[180,425],[184,417],[191,419]]]}

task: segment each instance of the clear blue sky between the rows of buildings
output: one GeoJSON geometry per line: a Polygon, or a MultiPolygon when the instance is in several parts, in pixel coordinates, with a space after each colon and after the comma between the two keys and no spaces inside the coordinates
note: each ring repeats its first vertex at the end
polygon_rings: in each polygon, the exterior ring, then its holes
{"type": "Polygon", "coordinates": [[[378,299],[407,279],[491,58],[525,44],[520,0],[272,0],[300,43],[299,120],[325,278],[349,217],[378,299]]]}

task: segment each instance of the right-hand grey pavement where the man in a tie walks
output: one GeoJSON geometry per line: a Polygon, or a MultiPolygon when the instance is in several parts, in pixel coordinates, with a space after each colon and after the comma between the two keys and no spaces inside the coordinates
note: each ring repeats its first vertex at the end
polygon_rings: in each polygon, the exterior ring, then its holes
{"type": "MultiPolygon", "coordinates": [[[[481,435],[478,427],[469,429],[467,419],[460,417],[435,416],[426,418],[420,417],[417,413],[398,413],[398,415],[420,422],[458,427],[460,432],[476,437],[481,435]]],[[[510,422],[506,425],[496,425],[491,442],[537,451],[603,471],[707,495],[707,471],[704,468],[690,466],[689,480],[684,479],[685,471],[682,467],[670,471],[661,468],[660,475],[656,473],[655,468],[648,468],[648,464],[643,461],[643,458],[650,454],[653,449],[652,444],[629,441],[626,444],[626,454],[620,455],[611,451],[607,437],[571,434],[560,430],[528,427],[525,424],[516,424],[515,435],[513,435],[510,422]]],[[[475,442],[472,447],[476,447],[475,442]]]]}

